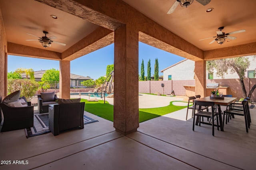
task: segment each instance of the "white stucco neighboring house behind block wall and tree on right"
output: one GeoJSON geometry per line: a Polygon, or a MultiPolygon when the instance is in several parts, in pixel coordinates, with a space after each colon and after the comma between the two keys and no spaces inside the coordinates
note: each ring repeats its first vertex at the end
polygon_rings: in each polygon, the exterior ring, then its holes
{"type": "MultiPolygon", "coordinates": [[[[256,58],[254,56],[247,56],[250,61],[250,66],[246,70],[246,77],[255,78],[256,58]]],[[[195,62],[189,59],[182,60],[172,66],[169,66],[161,72],[164,73],[164,80],[194,80],[195,62]]],[[[223,78],[239,78],[238,74],[234,72],[225,74],[223,78]]],[[[206,79],[222,79],[216,75],[216,70],[213,73],[206,71],[206,79]]]]}

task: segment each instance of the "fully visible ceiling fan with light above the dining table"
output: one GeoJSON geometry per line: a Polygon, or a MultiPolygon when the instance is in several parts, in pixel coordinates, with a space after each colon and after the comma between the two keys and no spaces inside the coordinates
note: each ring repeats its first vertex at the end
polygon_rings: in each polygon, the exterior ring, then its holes
{"type": "MultiPolygon", "coordinates": [[[[224,32],[221,31],[222,29],[224,29],[224,27],[219,27],[218,28],[219,31],[216,31],[217,35],[214,36],[214,37],[209,37],[209,38],[215,38],[216,37],[216,39],[212,40],[209,44],[214,43],[214,41],[217,41],[218,44],[223,44],[227,38],[231,39],[231,40],[236,39],[236,37],[229,36],[230,34],[245,32],[245,29],[241,29],[241,30],[238,30],[238,31],[233,31],[233,32],[225,34],[224,32]]],[[[209,38],[204,38],[204,39],[209,39],[209,38]]],[[[199,41],[204,40],[204,39],[200,39],[199,41]]]]}

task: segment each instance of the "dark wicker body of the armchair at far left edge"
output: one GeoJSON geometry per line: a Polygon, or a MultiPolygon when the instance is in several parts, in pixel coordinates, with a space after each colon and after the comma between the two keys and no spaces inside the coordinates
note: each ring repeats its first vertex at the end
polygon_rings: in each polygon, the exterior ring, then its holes
{"type": "Polygon", "coordinates": [[[28,102],[27,107],[12,107],[0,103],[4,122],[1,132],[25,129],[34,125],[34,106],[28,102]]]}

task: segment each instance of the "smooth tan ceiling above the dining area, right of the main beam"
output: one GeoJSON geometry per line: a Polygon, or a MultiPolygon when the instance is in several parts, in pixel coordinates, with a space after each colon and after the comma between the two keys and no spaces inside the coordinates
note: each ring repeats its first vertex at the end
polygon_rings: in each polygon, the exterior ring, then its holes
{"type": "Polygon", "coordinates": [[[172,14],[167,12],[176,0],[123,1],[203,51],[256,42],[256,0],[211,0],[206,6],[194,0],[188,8],[179,5],[172,14]],[[206,13],[208,8],[214,10],[206,13]],[[199,41],[216,36],[222,26],[225,33],[246,32],[233,34],[237,39],[222,45],[209,44],[214,38],[199,41]]]}

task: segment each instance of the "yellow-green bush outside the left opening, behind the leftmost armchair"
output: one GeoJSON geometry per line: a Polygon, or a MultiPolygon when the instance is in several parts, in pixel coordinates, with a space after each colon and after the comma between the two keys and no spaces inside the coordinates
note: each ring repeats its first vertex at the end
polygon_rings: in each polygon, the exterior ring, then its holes
{"type": "Polygon", "coordinates": [[[38,90],[38,82],[29,79],[8,79],[8,94],[20,90],[20,96],[25,96],[28,101],[38,90]]]}

